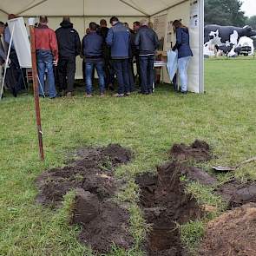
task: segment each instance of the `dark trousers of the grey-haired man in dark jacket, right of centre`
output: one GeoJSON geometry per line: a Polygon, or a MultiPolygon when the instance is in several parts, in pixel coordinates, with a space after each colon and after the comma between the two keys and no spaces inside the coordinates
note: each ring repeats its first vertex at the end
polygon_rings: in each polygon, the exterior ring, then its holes
{"type": "Polygon", "coordinates": [[[140,56],[141,92],[152,93],[154,82],[154,56],[140,56]]]}

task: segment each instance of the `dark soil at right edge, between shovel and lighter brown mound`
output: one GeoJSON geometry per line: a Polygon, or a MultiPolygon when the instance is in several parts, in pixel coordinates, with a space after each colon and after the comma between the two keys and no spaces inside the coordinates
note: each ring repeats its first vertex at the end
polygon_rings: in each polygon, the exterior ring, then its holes
{"type": "Polygon", "coordinates": [[[233,180],[216,190],[228,204],[228,208],[240,207],[250,202],[256,203],[256,182],[241,183],[233,180]]]}

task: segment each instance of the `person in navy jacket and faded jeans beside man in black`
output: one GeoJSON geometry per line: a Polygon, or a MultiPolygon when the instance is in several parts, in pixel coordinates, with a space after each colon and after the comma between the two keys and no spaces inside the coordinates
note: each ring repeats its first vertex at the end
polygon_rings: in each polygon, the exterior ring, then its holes
{"type": "Polygon", "coordinates": [[[94,69],[99,76],[100,94],[104,96],[105,75],[103,58],[103,37],[97,34],[97,24],[89,23],[89,34],[82,39],[82,55],[85,56],[86,95],[92,96],[92,75],[94,69]]]}

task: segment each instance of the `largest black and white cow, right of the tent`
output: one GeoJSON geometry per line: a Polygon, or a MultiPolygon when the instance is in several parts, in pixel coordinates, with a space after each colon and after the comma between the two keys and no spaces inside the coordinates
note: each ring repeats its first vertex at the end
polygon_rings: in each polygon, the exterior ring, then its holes
{"type": "Polygon", "coordinates": [[[233,26],[207,25],[205,26],[204,53],[208,55],[209,50],[225,48],[227,56],[234,56],[240,37],[256,36],[256,30],[246,26],[244,28],[233,26]]]}

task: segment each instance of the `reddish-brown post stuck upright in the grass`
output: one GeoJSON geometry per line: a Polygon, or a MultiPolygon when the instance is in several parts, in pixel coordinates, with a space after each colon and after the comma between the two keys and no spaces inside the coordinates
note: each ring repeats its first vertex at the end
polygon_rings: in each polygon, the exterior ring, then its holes
{"type": "Polygon", "coordinates": [[[37,75],[37,68],[36,68],[35,28],[32,25],[30,25],[30,45],[31,45],[33,89],[34,89],[35,108],[36,108],[36,126],[37,126],[37,134],[38,134],[39,152],[40,152],[41,160],[44,161],[43,132],[42,132],[42,126],[41,126],[38,75],[37,75]]]}

